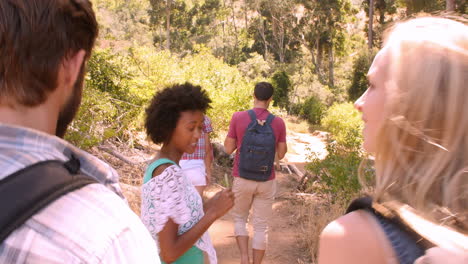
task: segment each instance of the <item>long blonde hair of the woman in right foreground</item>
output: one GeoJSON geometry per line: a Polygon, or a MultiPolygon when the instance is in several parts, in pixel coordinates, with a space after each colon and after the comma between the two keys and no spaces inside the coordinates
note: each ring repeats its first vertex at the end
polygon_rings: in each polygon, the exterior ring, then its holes
{"type": "Polygon", "coordinates": [[[375,199],[406,203],[438,223],[435,209],[444,208],[467,231],[468,26],[434,17],[402,22],[382,52],[388,72],[375,199]]]}

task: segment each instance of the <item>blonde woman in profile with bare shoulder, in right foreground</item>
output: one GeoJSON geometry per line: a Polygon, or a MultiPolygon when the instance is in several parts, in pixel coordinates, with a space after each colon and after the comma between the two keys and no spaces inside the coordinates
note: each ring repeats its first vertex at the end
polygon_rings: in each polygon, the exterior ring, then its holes
{"type": "MultiPolygon", "coordinates": [[[[368,79],[355,107],[375,157],[373,201],[436,238],[445,263],[467,263],[468,27],[431,17],[396,25],[368,79]]],[[[410,233],[376,210],[355,210],[323,230],[319,263],[414,263],[425,249],[410,233]]]]}

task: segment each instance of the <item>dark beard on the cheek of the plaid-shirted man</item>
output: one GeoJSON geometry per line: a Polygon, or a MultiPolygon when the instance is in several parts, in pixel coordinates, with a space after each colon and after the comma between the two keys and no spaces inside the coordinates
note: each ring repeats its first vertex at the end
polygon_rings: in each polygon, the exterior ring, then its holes
{"type": "Polygon", "coordinates": [[[59,113],[59,117],[57,119],[57,128],[55,130],[55,135],[57,137],[63,138],[65,136],[68,125],[70,125],[70,123],[73,121],[76,113],[78,112],[78,108],[80,107],[85,75],[84,68],[85,66],[83,63],[76,82],[73,85],[72,94],[59,113]]]}

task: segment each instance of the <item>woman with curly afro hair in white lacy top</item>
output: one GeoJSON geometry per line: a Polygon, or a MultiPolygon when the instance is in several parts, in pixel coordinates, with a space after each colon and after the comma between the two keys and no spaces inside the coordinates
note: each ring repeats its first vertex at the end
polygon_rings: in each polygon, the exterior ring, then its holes
{"type": "Polygon", "coordinates": [[[182,154],[195,151],[210,103],[200,86],[185,83],[158,92],[146,109],[146,132],[162,147],[145,172],[141,217],[163,263],[202,264],[203,251],[217,263],[206,231],[234,205],[234,195],[226,189],[203,205],[179,166],[182,154]]]}

